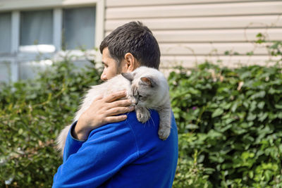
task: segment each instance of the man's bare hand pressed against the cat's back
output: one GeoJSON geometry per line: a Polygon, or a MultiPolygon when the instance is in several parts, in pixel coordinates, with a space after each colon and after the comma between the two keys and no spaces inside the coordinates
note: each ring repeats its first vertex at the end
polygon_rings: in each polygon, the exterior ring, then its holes
{"type": "Polygon", "coordinates": [[[134,111],[134,107],[130,106],[130,99],[119,100],[126,96],[126,92],[116,92],[105,98],[102,96],[95,99],[90,108],[88,108],[80,118],[72,132],[73,137],[79,140],[87,139],[89,133],[107,123],[123,121],[127,115],[119,115],[134,111]]]}

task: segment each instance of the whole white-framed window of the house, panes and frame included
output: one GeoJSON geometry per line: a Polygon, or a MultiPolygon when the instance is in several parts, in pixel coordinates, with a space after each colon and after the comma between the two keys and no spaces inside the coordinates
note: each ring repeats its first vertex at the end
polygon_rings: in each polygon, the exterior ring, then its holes
{"type": "Polygon", "coordinates": [[[0,6],[0,82],[33,77],[54,56],[84,54],[76,49],[95,54],[103,38],[104,0],[5,1],[0,6]]]}

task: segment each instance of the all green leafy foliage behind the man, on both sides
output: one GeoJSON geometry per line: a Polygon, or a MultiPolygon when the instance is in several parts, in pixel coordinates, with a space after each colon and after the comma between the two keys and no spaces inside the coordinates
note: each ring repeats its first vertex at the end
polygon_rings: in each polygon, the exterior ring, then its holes
{"type": "MultiPolygon", "coordinates": [[[[281,57],[281,46],[269,46],[270,55],[281,57]]],[[[170,73],[179,134],[173,187],[282,187],[281,73],[281,58],[271,67],[206,62],[170,73]]],[[[94,63],[78,70],[65,58],[35,80],[1,84],[1,187],[51,187],[62,163],[56,136],[100,74],[94,63]]]]}

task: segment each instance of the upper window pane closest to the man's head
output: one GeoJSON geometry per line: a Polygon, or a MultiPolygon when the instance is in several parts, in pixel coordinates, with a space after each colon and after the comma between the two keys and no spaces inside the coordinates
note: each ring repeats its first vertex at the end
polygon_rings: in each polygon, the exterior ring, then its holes
{"type": "Polygon", "coordinates": [[[68,8],[63,10],[63,48],[93,49],[95,8],[68,8]]]}

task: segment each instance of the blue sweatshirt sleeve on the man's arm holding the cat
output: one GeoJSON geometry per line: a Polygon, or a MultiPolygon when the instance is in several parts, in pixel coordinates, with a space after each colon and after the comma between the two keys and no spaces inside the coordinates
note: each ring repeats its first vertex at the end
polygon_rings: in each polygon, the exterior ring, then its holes
{"type": "Polygon", "coordinates": [[[85,142],[71,139],[53,187],[99,187],[138,157],[135,135],[125,121],[92,130],[85,142]]]}

